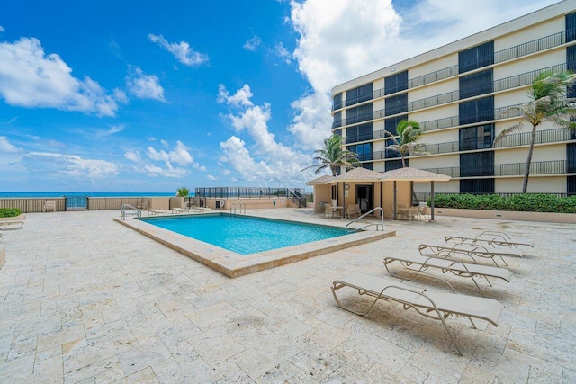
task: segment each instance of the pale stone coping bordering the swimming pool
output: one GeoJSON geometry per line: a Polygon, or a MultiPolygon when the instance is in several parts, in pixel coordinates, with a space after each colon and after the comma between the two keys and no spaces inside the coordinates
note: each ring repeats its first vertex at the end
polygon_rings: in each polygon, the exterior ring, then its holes
{"type": "MultiPolygon", "coordinates": [[[[210,213],[207,213],[210,214],[210,213]]],[[[162,215],[164,218],[190,217],[190,214],[171,214],[162,215]]],[[[241,214],[249,218],[265,219],[256,215],[241,214]]],[[[160,218],[160,215],[157,216],[160,218]]],[[[268,218],[266,218],[268,219],[268,218]]],[[[284,220],[284,219],[283,219],[284,220]]],[[[332,237],[325,240],[314,241],[299,246],[287,246],[284,248],[273,249],[270,251],[259,252],[252,255],[240,255],[231,252],[220,246],[212,246],[200,240],[177,234],[165,228],[159,228],[149,224],[144,220],[136,218],[126,218],[121,220],[114,218],[114,221],[136,230],[140,234],[150,237],[157,242],[174,249],[175,251],[186,255],[199,263],[208,265],[213,270],[225,274],[230,278],[243,276],[248,273],[264,271],[288,263],[295,263],[319,255],[329,254],[331,252],[346,249],[352,246],[359,246],[370,243],[386,237],[396,236],[396,231],[365,231],[361,230],[341,237],[332,237]]],[[[312,224],[303,221],[285,219],[302,224],[312,224]]],[[[342,228],[338,226],[329,226],[342,228]]]]}

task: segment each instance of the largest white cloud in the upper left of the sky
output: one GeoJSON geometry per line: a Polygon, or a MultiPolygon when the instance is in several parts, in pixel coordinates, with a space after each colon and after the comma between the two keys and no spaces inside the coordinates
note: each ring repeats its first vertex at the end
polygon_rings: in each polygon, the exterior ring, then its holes
{"type": "Polygon", "coordinates": [[[0,63],[0,95],[13,106],[114,116],[126,101],[119,90],[107,94],[90,77],[72,76],[72,68],[57,54],[47,55],[38,39],[0,42],[0,63]]]}

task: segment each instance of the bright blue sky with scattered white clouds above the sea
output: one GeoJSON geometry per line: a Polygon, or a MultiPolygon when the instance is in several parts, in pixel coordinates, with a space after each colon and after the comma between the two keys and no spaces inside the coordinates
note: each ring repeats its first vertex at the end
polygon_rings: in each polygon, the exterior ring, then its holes
{"type": "Polygon", "coordinates": [[[5,0],[0,192],[303,188],[332,87],[554,3],[5,0]]]}

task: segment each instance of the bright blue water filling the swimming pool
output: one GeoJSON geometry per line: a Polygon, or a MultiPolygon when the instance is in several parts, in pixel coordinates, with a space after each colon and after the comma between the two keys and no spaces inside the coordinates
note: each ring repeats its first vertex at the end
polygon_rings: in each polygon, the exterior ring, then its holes
{"type": "Polygon", "coordinates": [[[344,228],[226,214],[142,220],[240,255],[347,235],[344,228]]]}

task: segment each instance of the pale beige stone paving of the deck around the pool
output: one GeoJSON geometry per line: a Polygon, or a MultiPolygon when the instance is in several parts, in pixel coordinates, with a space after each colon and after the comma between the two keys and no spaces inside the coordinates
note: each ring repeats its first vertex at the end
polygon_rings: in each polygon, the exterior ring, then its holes
{"type": "MultiPolygon", "coordinates": [[[[256,211],[327,220],[311,210],[256,211]]],[[[35,213],[4,231],[0,382],[576,382],[576,225],[387,221],[396,237],[229,279],[113,222],[118,215],[35,213]],[[387,276],[384,255],[485,229],[535,249],[507,259],[510,283],[482,285],[505,305],[500,326],[448,318],[464,356],[439,322],[400,305],[379,303],[367,317],[336,306],[332,281],[387,276]]]]}

